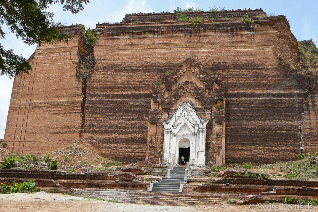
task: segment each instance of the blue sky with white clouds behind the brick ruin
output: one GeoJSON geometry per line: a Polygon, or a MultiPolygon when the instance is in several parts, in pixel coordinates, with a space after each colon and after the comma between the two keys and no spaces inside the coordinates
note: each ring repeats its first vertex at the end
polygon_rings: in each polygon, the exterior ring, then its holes
{"type": "MultiPolygon", "coordinates": [[[[162,12],[173,11],[180,8],[200,8],[209,10],[209,7],[225,7],[226,10],[236,9],[258,9],[262,8],[267,14],[284,15],[289,20],[291,31],[297,40],[309,40],[318,42],[318,1],[174,1],[174,0],[91,0],[85,5],[85,10],[77,15],[72,15],[69,11],[64,12],[61,5],[52,5],[49,11],[55,16],[55,22],[71,24],[84,24],[91,29],[95,28],[98,22],[121,22],[128,13],[138,12],[162,12]]],[[[3,26],[5,30],[7,27],[3,26]]],[[[7,31],[8,32],[8,31],[7,31]]],[[[7,34],[6,39],[0,39],[0,43],[5,49],[13,49],[18,55],[29,58],[36,49],[36,46],[25,45],[17,39],[14,34],[7,34]]],[[[4,137],[5,124],[7,120],[13,79],[6,76],[0,77],[0,139],[4,137]]]]}

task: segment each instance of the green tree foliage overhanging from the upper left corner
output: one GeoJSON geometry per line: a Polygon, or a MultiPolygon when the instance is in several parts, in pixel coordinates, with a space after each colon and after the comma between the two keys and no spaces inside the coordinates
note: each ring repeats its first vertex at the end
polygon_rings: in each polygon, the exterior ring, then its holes
{"type": "MultiPolygon", "coordinates": [[[[55,3],[61,3],[64,11],[76,14],[89,0],[0,0],[0,38],[5,39],[7,33],[15,33],[28,45],[54,44],[72,39],[72,36],[61,33],[61,23],[55,23],[54,14],[46,11],[49,5],[55,3]],[[3,26],[7,26],[10,32],[4,33],[3,26]]],[[[13,50],[5,50],[0,44],[0,76],[5,74],[11,78],[19,72],[29,73],[31,70],[24,57],[14,54],[13,50]]]]}

